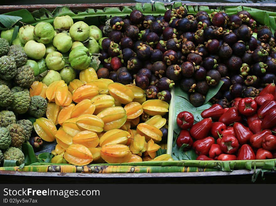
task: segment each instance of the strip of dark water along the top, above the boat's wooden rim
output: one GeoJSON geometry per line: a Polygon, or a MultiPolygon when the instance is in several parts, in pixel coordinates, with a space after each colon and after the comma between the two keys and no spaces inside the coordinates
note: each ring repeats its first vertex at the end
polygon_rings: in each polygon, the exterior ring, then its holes
{"type": "MultiPolygon", "coordinates": [[[[24,4],[73,4],[73,3],[153,3],[151,0],[0,0],[0,5],[24,5],[24,4]]],[[[173,3],[173,0],[161,0],[158,2],[173,3]]],[[[276,0],[194,0],[181,1],[183,3],[276,3],[276,0]]]]}

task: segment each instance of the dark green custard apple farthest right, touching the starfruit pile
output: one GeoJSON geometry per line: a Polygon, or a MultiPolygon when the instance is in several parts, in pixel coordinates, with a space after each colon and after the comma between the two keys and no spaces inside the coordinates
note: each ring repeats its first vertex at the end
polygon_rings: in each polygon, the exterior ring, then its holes
{"type": "Polygon", "coordinates": [[[28,113],[36,118],[43,117],[46,114],[47,106],[46,99],[41,96],[33,96],[31,97],[28,113]]]}

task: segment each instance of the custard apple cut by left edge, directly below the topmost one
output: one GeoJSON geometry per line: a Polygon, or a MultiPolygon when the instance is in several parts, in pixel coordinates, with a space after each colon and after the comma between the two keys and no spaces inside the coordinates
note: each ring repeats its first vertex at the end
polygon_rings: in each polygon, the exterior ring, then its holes
{"type": "Polygon", "coordinates": [[[11,80],[17,73],[16,62],[11,56],[0,57],[0,78],[11,80]]]}

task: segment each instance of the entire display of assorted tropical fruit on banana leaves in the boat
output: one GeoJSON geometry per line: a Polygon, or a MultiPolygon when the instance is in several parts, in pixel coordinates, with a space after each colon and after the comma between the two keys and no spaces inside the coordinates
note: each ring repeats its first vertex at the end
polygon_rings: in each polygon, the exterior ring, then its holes
{"type": "Polygon", "coordinates": [[[158,7],[2,30],[0,165],[275,158],[274,26],[158,7]]]}

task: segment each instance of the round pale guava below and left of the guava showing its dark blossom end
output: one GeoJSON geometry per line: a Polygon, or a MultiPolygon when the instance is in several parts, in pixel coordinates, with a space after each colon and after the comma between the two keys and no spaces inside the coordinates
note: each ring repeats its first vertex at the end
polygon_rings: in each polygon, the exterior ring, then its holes
{"type": "Polygon", "coordinates": [[[56,34],[53,45],[61,52],[67,52],[72,46],[72,38],[65,33],[56,34]]]}

